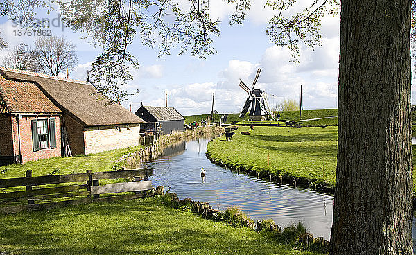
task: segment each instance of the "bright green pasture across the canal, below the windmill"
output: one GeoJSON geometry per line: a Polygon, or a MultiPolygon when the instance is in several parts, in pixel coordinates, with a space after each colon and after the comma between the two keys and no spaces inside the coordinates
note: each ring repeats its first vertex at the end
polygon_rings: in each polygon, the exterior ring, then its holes
{"type": "MultiPolygon", "coordinates": [[[[232,141],[219,137],[208,144],[207,155],[233,166],[306,178],[335,186],[337,128],[255,127],[243,136],[239,127],[232,141]]],[[[413,151],[413,186],[416,190],[416,146],[413,151]]]]}

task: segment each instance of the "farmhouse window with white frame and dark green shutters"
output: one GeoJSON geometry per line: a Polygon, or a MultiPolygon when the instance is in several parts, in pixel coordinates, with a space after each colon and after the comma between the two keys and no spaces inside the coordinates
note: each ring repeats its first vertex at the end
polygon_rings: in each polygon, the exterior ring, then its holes
{"type": "Polygon", "coordinates": [[[55,119],[32,121],[33,151],[56,148],[55,119]]]}

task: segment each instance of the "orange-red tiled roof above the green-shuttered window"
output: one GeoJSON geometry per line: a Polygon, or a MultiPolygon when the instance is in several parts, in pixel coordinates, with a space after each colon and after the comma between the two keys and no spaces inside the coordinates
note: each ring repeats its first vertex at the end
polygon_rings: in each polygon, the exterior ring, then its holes
{"type": "Polygon", "coordinates": [[[0,76],[0,96],[9,113],[62,113],[31,82],[15,82],[0,76]]]}

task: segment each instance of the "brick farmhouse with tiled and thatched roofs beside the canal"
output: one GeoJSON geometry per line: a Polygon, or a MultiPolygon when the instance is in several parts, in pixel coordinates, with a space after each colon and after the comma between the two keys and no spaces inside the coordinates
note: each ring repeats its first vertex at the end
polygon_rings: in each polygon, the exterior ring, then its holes
{"type": "Polygon", "coordinates": [[[0,165],[135,146],[140,123],[89,82],[0,67],[0,165]]]}

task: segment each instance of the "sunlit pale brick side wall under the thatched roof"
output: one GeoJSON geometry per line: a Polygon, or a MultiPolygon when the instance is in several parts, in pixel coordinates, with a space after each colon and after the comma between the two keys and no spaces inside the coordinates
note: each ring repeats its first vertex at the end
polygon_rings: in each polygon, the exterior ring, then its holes
{"type": "Polygon", "coordinates": [[[85,128],[85,153],[128,148],[140,143],[139,124],[101,126],[85,128]]]}

